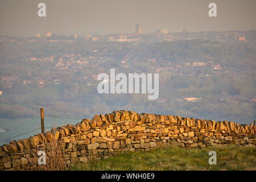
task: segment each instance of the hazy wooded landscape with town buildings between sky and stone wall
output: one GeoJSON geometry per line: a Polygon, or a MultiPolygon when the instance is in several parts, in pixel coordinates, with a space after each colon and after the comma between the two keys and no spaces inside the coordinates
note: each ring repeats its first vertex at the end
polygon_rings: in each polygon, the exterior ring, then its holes
{"type": "Polygon", "coordinates": [[[232,119],[255,117],[256,30],[113,35],[0,36],[0,118],[49,114],[90,117],[133,108],[139,112],[232,119]],[[159,73],[159,98],[97,93],[97,76],[159,73]],[[141,104],[143,103],[143,105],[141,104]]]}

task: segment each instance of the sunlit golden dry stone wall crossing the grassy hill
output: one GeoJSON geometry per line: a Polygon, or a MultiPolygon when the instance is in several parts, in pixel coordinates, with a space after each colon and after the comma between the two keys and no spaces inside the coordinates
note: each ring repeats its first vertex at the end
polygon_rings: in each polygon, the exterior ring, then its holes
{"type": "MultiPolygon", "coordinates": [[[[237,144],[254,146],[256,126],[232,121],[181,118],[174,115],[138,114],[115,110],[82,119],[77,125],[57,127],[44,134],[11,141],[0,147],[0,169],[34,169],[38,151],[47,160],[60,158],[68,168],[92,159],[108,158],[126,151],[148,151],[169,145],[204,148],[237,144]]],[[[55,159],[54,159],[55,160],[55,159]]]]}

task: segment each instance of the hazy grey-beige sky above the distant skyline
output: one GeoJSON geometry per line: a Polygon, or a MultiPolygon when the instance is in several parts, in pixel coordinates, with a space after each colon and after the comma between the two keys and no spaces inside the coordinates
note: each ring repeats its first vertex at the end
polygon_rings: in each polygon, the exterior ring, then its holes
{"type": "Polygon", "coordinates": [[[256,29],[255,0],[0,0],[0,35],[99,35],[256,29]],[[38,3],[46,3],[46,17],[38,16],[38,3]],[[210,18],[208,5],[217,4],[210,18]]]}

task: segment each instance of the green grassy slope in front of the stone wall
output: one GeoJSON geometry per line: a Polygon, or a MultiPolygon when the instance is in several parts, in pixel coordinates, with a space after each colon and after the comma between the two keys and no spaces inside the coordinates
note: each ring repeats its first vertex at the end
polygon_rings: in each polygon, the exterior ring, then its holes
{"type": "Polygon", "coordinates": [[[241,146],[185,149],[156,148],[124,152],[108,159],[77,164],[71,170],[256,170],[256,148],[241,146]],[[209,151],[216,151],[217,164],[210,165],[209,151]]]}

